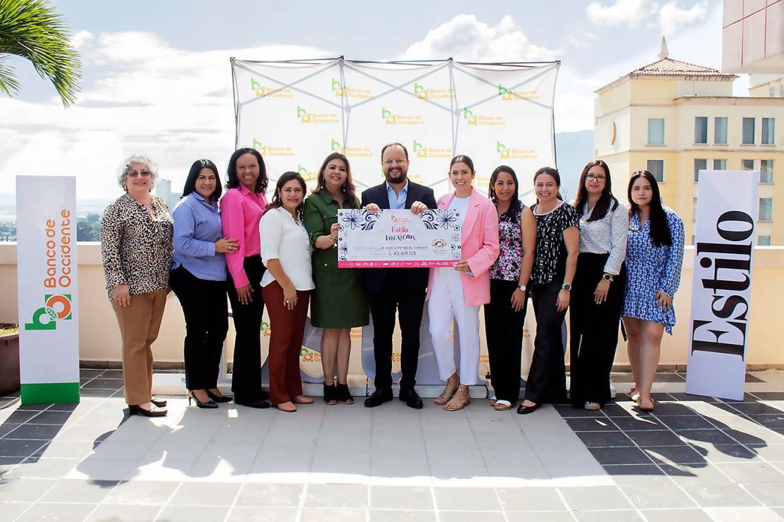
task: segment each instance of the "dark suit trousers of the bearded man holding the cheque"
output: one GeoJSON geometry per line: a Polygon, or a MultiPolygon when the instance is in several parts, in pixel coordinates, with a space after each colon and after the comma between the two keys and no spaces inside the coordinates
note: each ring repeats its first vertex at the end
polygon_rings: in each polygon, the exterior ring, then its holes
{"type": "Polygon", "coordinates": [[[395,311],[401,329],[400,387],[414,387],[419,362],[419,326],[425,304],[425,288],[411,286],[402,269],[390,268],[378,292],[368,292],[373,320],[373,355],[376,358],[376,390],[392,387],[392,334],[395,311]]]}

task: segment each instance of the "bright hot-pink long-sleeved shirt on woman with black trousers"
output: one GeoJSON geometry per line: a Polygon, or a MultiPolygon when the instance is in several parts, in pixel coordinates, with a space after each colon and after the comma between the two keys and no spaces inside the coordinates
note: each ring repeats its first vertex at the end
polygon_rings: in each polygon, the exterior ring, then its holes
{"type": "Polygon", "coordinates": [[[220,198],[223,235],[237,239],[239,244],[235,252],[226,253],[226,265],[234,281],[234,288],[242,288],[250,283],[242,264],[245,257],[261,254],[259,221],[265,207],[267,196],[263,193],[254,194],[241,183],[237,189],[227,190],[220,198]]]}

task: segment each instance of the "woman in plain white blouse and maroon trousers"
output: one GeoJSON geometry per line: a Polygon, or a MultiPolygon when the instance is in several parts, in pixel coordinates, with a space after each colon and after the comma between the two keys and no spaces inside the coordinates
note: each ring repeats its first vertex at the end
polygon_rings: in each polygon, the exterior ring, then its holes
{"type": "Polygon", "coordinates": [[[261,293],[270,315],[270,401],[283,412],[313,399],[302,394],[299,350],[314,289],[310,241],[302,222],[305,180],[296,172],[278,178],[272,203],[259,224],[261,260],[267,267],[261,293]]]}

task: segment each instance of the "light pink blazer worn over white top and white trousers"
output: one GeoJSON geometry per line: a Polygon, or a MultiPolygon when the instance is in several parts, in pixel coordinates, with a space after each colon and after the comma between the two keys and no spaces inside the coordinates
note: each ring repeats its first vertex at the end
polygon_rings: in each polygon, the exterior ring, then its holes
{"type": "MultiPolygon", "coordinates": [[[[438,199],[438,208],[448,208],[452,203],[455,193],[441,196],[438,199]]],[[[485,196],[481,196],[477,189],[471,191],[468,203],[468,215],[463,221],[461,259],[468,261],[471,275],[460,272],[463,281],[463,295],[466,306],[479,306],[490,302],[490,267],[495,263],[499,253],[498,240],[498,211],[485,196]]],[[[430,290],[433,289],[435,268],[430,268],[430,279],[427,283],[427,297],[430,299],[430,290]]]]}

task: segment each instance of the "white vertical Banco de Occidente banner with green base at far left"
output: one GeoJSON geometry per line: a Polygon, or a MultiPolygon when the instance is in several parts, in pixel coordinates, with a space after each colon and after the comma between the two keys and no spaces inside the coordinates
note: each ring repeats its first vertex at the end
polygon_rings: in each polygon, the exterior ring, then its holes
{"type": "Polygon", "coordinates": [[[22,404],[79,401],[76,178],[16,177],[22,404]]]}

